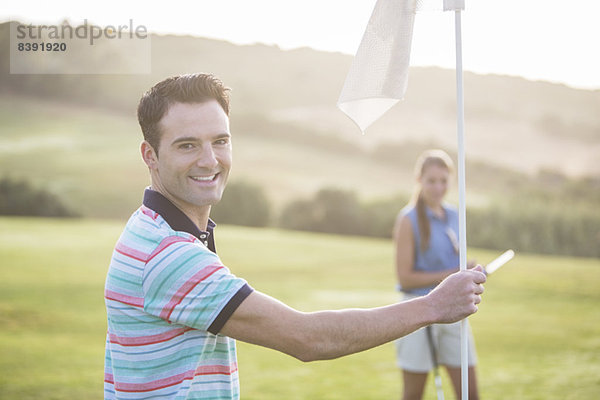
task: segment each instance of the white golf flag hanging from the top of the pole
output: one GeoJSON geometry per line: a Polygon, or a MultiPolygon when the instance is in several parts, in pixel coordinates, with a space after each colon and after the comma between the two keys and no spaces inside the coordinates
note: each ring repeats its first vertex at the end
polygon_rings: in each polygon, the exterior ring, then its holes
{"type": "MultiPolygon", "coordinates": [[[[442,0],[377,0],[337,103],[363,133],[404,98],[416,12],[441,9],[442,0]]],[[[464,0],[443,0],[443,9],[464,9],[464,0]]]]}

